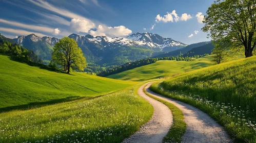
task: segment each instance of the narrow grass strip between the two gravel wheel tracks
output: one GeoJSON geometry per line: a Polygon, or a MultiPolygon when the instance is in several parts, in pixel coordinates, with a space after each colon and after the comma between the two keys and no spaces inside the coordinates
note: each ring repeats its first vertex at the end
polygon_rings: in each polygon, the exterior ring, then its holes
{"type": "Polygon", "coordinates": [[[184,116],[183,116],[182,111],[175,105],[173,105],[165,100],[162,100],[162,99],[152,96],[150,93],[148,93],[145,90],[145,87],[144,87],[143,91],[145,94],[147,94],[147,96],[149,96],[150,98],[155,99],[159,102],[162,102],[171,110],[171,113],[173,116],[173,123],[172,123],[172,126],[171,126],[170,130],[168,131],[167,135],[164,137],[163,142],[181,142],[182,137],[185,134],[186,128],[187,128],[187,124],[184,122],[184,116]]]}

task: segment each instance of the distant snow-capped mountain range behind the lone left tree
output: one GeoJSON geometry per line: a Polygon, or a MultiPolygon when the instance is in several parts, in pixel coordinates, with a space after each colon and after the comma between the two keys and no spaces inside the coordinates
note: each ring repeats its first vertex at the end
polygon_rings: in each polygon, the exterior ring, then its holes
{"type": "MultiPolygon", "coordinates": [[[[127,38],[110,38],[106,36],[80,36],[71,34],[81,47],[87,62],[106,65],[119,65],[126,62],[148,58],[161,51],[174,51],[187,46],[171,38],[164,38],[152,33],[135,33],[127,38]]],[[[54,37],[38,37],[35,34],[18,36],[16,43],[33,50],[44,60],[51,59],[54,44],[60,39],[54,37]]]]}

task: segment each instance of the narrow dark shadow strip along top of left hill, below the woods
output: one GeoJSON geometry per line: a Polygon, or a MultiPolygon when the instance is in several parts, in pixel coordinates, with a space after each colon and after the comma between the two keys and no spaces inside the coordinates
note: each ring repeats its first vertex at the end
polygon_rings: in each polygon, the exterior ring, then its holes
{"type": "Polygon", "coordinates": [[[9,54],[8,55],[7,54],[1,54],[1,55],[8,56],[10,60],[15,61],[15,62],[25,63],[25,64],[27,64],[29,66],[36,66],[36,67],[39,67],[41,69],[46,69],[46,70],[49,70],[49,71],[54,71],[56,73],[67,74],[65,71],[63,71],[61,69],[52,68],[49,65],[44,65],[42,63],[35,63],[35,62],[27,61],[27,60],[24,60],[23,58],[19,58],[19,57],[12,56],[12,55],[9,55],[9,54]]]}

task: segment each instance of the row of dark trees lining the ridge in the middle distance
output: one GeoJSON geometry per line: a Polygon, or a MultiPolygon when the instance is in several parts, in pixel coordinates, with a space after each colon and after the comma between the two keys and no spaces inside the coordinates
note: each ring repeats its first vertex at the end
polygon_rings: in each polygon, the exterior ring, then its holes
{"type": "Polygon", "coordinates": [[[172,57],[164,57],[164,58],[147,58],[147,59],[137,60],[134,62],[128,62],[123,65],[116,66],[114,68],[109,68],[107,70],[103,70],[101,73],[98,73],[97,76],[107,77],[109,75],[121,73],[123,71],[130,70],[130,69],[133,69],[136,67],[152,64],[159,60],[193,61],[196,58],[200,58],[200,57],[208,56],[208,55],[209,54],[195,55],[193,57],[183,57],[182,55],[178,55],[176,57],[172,56],[172,57]]]}

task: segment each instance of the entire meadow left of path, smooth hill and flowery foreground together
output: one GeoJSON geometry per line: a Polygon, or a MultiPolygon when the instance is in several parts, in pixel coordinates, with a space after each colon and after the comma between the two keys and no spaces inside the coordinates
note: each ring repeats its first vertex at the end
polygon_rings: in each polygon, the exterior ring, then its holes
{"type": "Polygon", "coordinates": [[[121,142],[153,113],[137,95],[138,82],[0,60],[0,142],[121,142]]]}

